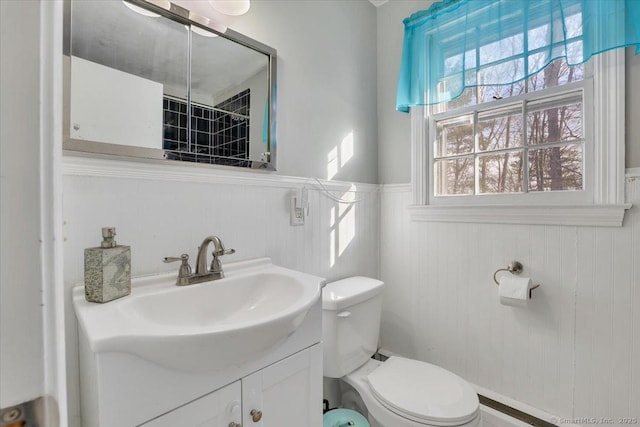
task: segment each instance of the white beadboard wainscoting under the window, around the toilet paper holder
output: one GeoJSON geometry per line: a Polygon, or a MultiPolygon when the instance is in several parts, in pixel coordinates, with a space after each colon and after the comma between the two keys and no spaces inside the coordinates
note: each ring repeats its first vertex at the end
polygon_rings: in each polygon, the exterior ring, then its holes
{"type": "Polygon", "coordinates": [[[384,186],[382,346],[555,423],[640,417],[637,172],[619,228],[412,222],[410,186],[384,186]],[[498,303],[510,260],[541,283],[528,308],[498,303]]]}

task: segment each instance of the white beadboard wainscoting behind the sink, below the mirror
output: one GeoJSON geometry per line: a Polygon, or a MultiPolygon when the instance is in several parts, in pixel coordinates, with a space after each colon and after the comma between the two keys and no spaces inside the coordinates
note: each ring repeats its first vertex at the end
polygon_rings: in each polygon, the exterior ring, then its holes
{"type": "MultiPolygon", "coordinates": [[[[132,274],[178,271],[165,256],[188,253],[218,235],[234,255],[223,263],[269,256],[277,265],[325,277],[378,276],[378,186],[323,182],[331,194],[357,200],[338,204],[313,179],[214,171],[158,169],[144,163],[65,158],[64,274],[70,425],[80,425],[76,321],[70,292],[83,279],[83,250],[115,226],[118,244],[131,246],[132,274]],[[304,226],[289,225],[290,196],[309,189],[304,226]],[[345,191],[349,193],[345,195],[345,191]]],[[[192,265],[193,265],[192,262],[192,265]]]]}

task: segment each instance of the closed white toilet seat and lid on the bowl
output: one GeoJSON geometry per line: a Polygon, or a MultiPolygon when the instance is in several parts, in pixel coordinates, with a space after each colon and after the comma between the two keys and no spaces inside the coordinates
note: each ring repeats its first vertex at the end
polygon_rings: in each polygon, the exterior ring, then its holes
{"type": "Polygon", "coordinates": [[[478,414],[473,388],[430,363],[390,357],[367,376],[367,382],[385,408],[418,423],[461,425],[478,414]]]}

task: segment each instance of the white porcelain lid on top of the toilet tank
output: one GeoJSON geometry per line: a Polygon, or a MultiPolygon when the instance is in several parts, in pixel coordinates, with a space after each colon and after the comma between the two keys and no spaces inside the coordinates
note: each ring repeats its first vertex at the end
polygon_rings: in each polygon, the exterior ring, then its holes
{"type": "Polygon", "coordinates": [[[322,309],[342,310],[379,295],[384,282],[355,276],[327,284],[322,289],[322,309]]]}

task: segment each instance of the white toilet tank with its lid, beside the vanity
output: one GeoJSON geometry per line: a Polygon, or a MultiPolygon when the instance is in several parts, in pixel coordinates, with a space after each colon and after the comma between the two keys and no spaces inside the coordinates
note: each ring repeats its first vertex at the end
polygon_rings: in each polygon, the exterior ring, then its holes
{"type": "Polygon", "coordinates": [[[329,283],[322,290],[325,377],[340,378],[377,351],[383,285],[357,276],[329,283]]]}

